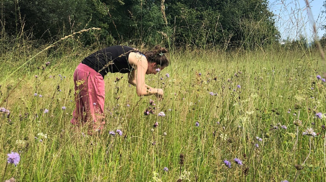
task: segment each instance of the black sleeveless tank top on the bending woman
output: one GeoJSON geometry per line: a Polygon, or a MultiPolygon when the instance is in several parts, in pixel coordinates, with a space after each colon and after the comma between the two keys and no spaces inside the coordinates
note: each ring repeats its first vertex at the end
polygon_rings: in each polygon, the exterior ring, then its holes
{"type": "Polygon", "coordinates": [[[127,46],[111,46],[89,55],[82,60],[82,63],[93,68],[103,77],[109,72],[130,73],[133,70],[128,62],[130,52],[141,53],[139,50],[127,46]]]}

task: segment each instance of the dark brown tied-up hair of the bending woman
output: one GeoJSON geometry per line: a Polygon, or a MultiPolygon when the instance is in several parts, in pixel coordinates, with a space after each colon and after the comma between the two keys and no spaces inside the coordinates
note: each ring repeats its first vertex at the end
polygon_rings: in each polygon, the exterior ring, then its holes
{"type": "Polygon", "coordinates": [[[167,49],[162,48],[161,46],[157,45],[157,46],[155,46],[154,50],[146,51],[144,54],[146,56],[147,61],[149,61],[151,63],[156,63],[160,66],[168,66],[169,60],[164,54],[167,52],[168,52],[167,49]]]}

